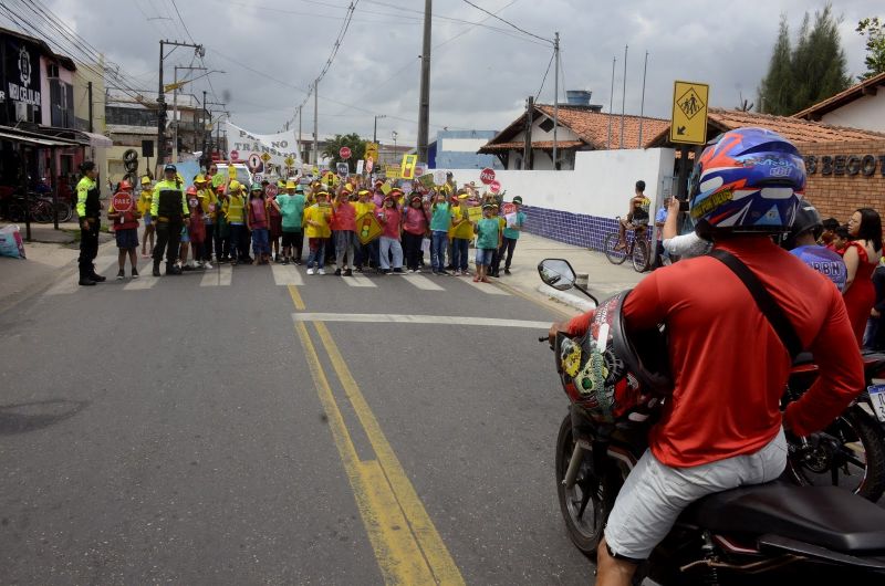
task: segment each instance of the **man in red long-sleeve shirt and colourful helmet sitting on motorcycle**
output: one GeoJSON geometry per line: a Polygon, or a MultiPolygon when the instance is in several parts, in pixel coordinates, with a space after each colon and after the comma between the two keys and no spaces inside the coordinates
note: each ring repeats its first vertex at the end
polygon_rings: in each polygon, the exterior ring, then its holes
{"type": "MultiPolygon", "coordinates": [[[[691,259],[643,280],[624,303],[625,323],[628,329],[666,324],[674,391],[649,433],[649,450],[610,515],[598,548],[600,586],[629,584],[636,564],[648,557],[691,502],[778,478],[787,462],[782,421],[799,436],[818,431],[863,388],[863,364],[835,285],[758,233],[763,230],[753,230],[778,229],[761,223],[771,221],[766,210],[772,206],[785,206],[778,209],[780,217],[793,216],[804,165],[791,148],[768,130],[727,133],[700,157],[691,205],[702,210],[695,218],[711,229],[716,248],[742,261],[777,301],[803,346],[814,354],[820,377],[782,417],[779,401],[790,355],[749,290],[719,260],[691,259]],[[769,167],[760,169],[759,160],[791,166],[792,197],[784,191],[784,174],[770,187],[769,167]],[[709,199],[728,189],[733,190],[709,199]],[[705,205],[708,199],[718,205],[705,205]],[[753,216],[757,203],[763,211],[753,216]],[[717,226],[731,229],[717,232],[717,226]]],[[[551,333],[581,335],[591,320],[592,312],[554,325],[551,333]]]]}

